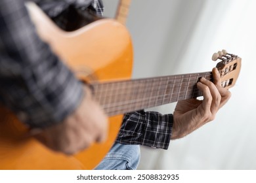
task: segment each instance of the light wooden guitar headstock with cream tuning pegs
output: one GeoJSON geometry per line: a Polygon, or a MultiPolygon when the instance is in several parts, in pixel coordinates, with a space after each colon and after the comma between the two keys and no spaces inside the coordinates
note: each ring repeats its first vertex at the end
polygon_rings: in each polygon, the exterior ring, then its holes
{"type": "Polygon", "coordinates": [[[234,86],[241,69],[241,58],[234,54],[228,54],[226,50],[222,50],[213,54],[212,59],[213,61],[221,59],[216,65],[221,74],[221,86],[223,88],[234,86]]]}

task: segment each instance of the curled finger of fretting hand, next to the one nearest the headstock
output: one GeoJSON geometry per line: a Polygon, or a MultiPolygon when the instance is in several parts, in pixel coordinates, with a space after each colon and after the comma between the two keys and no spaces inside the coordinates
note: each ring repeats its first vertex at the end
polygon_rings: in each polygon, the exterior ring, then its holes
{"type": "Polygon", "coordinates": [[[205,78],[201,78],[200,81],[209,88],[212,97],[211,113],[216,114],[216,112],[219,110],[219,106],[221,103],[221,94],[219,93],[219,90],[216,88],[213,82],[206,80],[205,78]]]}

